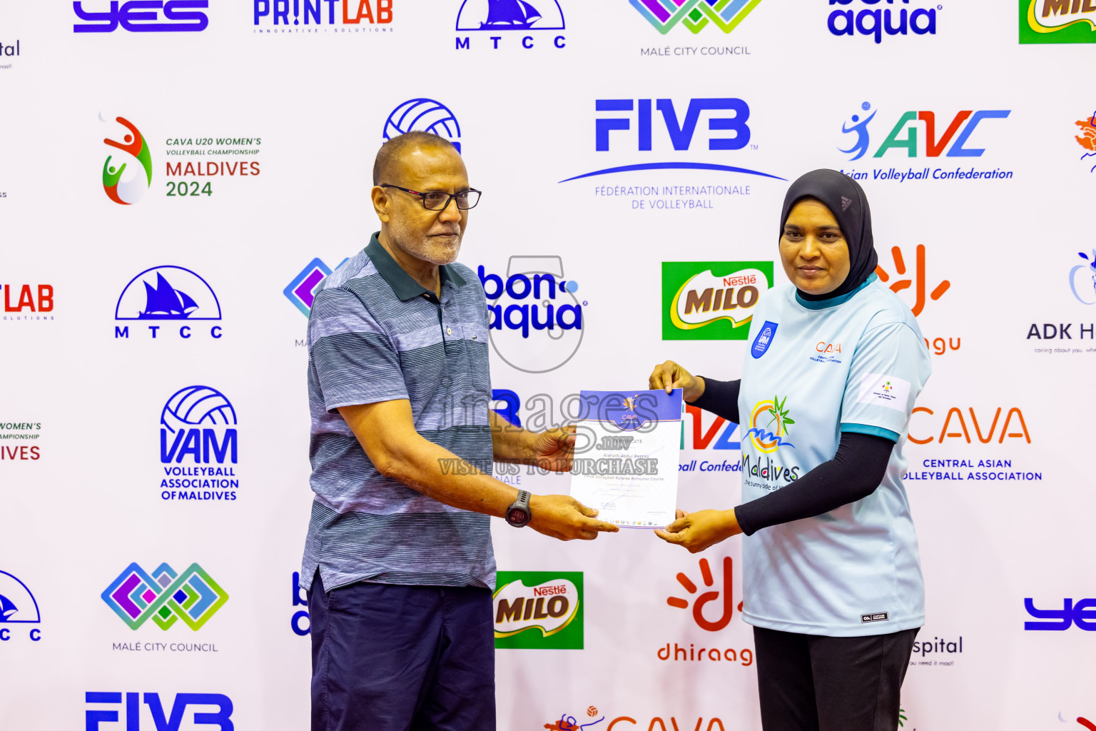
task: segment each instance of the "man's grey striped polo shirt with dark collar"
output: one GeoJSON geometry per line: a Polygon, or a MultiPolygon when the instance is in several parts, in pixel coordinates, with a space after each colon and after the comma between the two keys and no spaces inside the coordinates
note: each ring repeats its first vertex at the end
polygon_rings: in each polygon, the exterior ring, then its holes
{"type": "Polygon", "coordinates": [[[449,507],[369,461],[338,408],[408,399],[415,431],[491,473],[487,300],[463,264],[442,297],[373,235],[320,284],[308,318],[312,515],[301,585],[356,581],[494,587],[490,518],[449,507]]]}

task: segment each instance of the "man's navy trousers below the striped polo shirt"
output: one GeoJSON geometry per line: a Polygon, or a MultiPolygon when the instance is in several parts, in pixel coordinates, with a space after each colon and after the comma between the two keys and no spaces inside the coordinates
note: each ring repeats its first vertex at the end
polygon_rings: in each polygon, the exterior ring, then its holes
{"type": "Polygon", "coordinates": [[[494,731],[491,592],[356,583],[308,593],[312,731],[494,731]]]}

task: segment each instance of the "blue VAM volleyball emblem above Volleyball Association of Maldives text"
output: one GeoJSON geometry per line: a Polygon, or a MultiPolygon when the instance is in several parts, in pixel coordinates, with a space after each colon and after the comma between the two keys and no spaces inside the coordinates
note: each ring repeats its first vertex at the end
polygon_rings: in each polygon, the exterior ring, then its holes
{"type": "Polygon", "coordinates": [[[237,464],[236,409],[208,386],[175,391],[160,413],[160,461],[195,465],[237,464]]]}

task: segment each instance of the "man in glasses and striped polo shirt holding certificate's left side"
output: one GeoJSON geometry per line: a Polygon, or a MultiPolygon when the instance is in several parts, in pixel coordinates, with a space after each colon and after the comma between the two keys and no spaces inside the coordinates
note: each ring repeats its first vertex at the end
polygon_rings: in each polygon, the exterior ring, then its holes
{"type": "Polygon", "coordinates": [[[617,527],[491,477],[492,460],[569,470],[574,436],[488,408],[487,300],[455,263],[479,199],[460,155],[408,133],[381,147],[373,182],[380,231],[323,281],[308,319],[312,730],[490,731],[489,516],[513,509],[562,540],[617,527]]]}

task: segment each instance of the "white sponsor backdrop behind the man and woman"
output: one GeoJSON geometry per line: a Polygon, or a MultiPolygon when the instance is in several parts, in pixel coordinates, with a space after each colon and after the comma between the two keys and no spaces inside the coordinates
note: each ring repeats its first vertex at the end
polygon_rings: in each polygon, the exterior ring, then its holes
{"type": "MultiPolygon", "coordinates": [[[[284,3],[290,22],[293,3],[284,3]]],[[[879,44],[831,34],[827,16],[844,7],[824,0],[764,0],[729,34],[713,24],[693,34],[678,24],[664,35],[626,0],[559,0],[566,30],[534,24],[527,33],[455,33],[459,0],[393,0],[392,22],[384,25],[330,25],[324,15],[313,33],[266,33],[273,24],[263,18],[256,26],[250,1],[209,4],[199,33],[73,33],[72,3],[0,0],[0,45],[19,42],[18,56],[0,58],[0,285],[10,297],[0,321],[0,570],[22,581],[41,610],[37,624],[0,621],[10,630],[0,641],[0,728],[85,728],[85,711],[96,709],[118,711],[119,720],[100,728],[123,728],[125,704],[88,704],[89,692],[156,693],[168,709],[176,694],[222,694],[236,728],[307,728],[309,646],[290,626],[302,609],[293,602],[292,574],[311,494],[307,354],[298,343],[305,318],[283,289],[316,258],[334,266],[352,255],[377,228],[368,204],[373,156],[389,113],[416,98],[452,111],[472,185],[486,192],[460,260],[505,277],[511,256],[559,256],[562,276],[579,284],[583,336],[566,364],[526,373],[506,362],[521,353],[503,359],[492,352],[494,388],[523,401],[548,395],[557,413],[560,399],[582,388],[643,388],[652,365],[666,358],[694,373],[737,377],[744,341],[662,340],[661,263],[772,261],[787,187],[763,175],[683,169],[559,181],[646,162],[730,165],[789,181],[818,167],[866,172],[880,265],[891,281],[912,283],[900,292],[911,306],[923,277],[918,320],[929,340],[941,339],[934,350],[944,351],[934,354],[935,373],[918,401],[927,411],[911,426],[925,443],[906,447],[911,472],[923,478],[906,487],[927,586],[918,639],[932,651],[910,669],[904,724],[1058,729],[1096,718],[1096,635],[1082,628],[1085,617],[1078,613],[1065,631],[1024,629],[1031,619],[1026,597],[1061,609],[1065,599],[1096,595],[1088,455],[1096,308],[1069,285],[1071,269],[1084,263],[1077,252],[1093,247],[1085,214],[1094,159],[1082,160],[1085,149],[1074,139],[1075,123],[1096,104],[1083,83],[1092,46],[1018,45],[1015,1],[854,0],[848,9],[882,9],[894,19],[935,10],[935,33],[883,34],[879,44]],[[533,48],[523,48],[525,37],[533,48]],[[468,48],[458,47],[464,38],[468,48]],[[728,47],[737,53],[699,50],[728,47]],[[710,150],[709,137],[732,133],[718,123],[709,128],[709,121],[733,114],[701,111],[687,149],[674,149],[652,102],[652,149],[639,149],[638,100],[671,99],[682,121],[690,100],[728,98],[749,105],[744,148],[710,150]],[[598,112],[596,100],[632,100],[636,112],[598,112]],[[984,149],[980,157],[929,157],[923,122],[907,125],[920,135],[915,158],[906,148],[874,157],[905,112],[934,112],[939,138],[960,111],[979,110],[1009,111],[971,133],[966,148],[984,149]],[[867,153],[849,161],[838,148],[854,145],[856,134],[842,134],[842,125],[872,112],[867,153]],[[133,206],[113,203],[101,184],[107,155],[128,161],[126,178],[140,171],[137,160],[103,144],[122,140],[117,116],[149,147],[151,187],[133,206]],[[598,117],[630,121],[608,133],[605,151],[595,148],[598,117]],[[252,141],[199,141],[226,136],[252,141]],[[259,174],[181,178],[168,169],[240,161],[258,162],[259,174]],[[874,175],[926,167],[1012,175],[874,175]],[[198,181],[197,195],[169,197],[169,183],[180,180],[198,181]],[[208,195],[201,190],[207,182],[208,195]],[[663,186],[672,185],[738,190],[666,194],[663,186]],[[659,193],[607,196],[603,186],[659,193]],[[655,198],[703,203],[652,209],[655,198]],[[199,275],[222,319],[192,323],[189,339],[176,321],[161,323],[155,339],[146,323],[115,321],[123,288],[155,266],[199,275]],[[945,279],[950,287],[932,299],[945,279]],[[53,309],[20,309],[22,286],[36,296],[39,284],[53,288],[53,309]],[[1072,323],[1071,340],[1028,336],[1044,323],[1072,323]],[[129,336],[116,336],[116,325],[129,325],[129,336]],[[236,500],[161,496],[161,410],[196,385],[217,389],[235,409],[239,457],[226,467],[239,480],[236,500]],[[1011,467],[978,467],[991,459],[1011,467]],[[989,471],[1031,479],[968,477],[989,471]],[[229,599],[197,631],[182,621],[161,630],[151,620],[130,629],[100,594],[135,562],[148,572],[164,562],[178,572],[197,563],[229,599]],[[183,651],[171,649],[178,643],[183,651]]],[[[323,12],[331,5],[339,16],[342,4],[326,3],[323,12]]],[[[110,8],[105,0],[84,5],[110,8]]],[[[466,12],[472,21],[483,14],[471,2],[466,12]]],[[[1086,277],[1078,275],[1084,286],[1086,277]]],[[[785,282],[779,265],[776,282],[785,282]]],[[[573,350],[573,335],[549,343],[546,368],[566,359],[559,354],[573,350]]],[[[520,345],[511,339],[501,347],[520,345]]],[[[523,406],[521,415],[528,421],[532,413],[523,406]]],[[[713,448],[723,427],[707,448],[694,449],[712,416],[704,414],[699,432],[692,419],[683,464],[738,461],[738,450],[713,448]]],[[[535,492],[569,483],[566,476],[521,480],[535,492]]],[[[739,494],[735,472],[681,476],[687,510],[733,506],[739,494]]],[[[729,540],[705,555],[715,574],[705,586],[700,557],[646,532],[564,545],[496,522],[500,569],[581,571],[585,612],[582,650],[498,652],[500,728],[570,728],[558,723],[566,715],[574,728],[593,723],[586,728],[598,731],[760,728],[752,633],[737,608],[740,545],[729,540]],[[695,594],[678,573],[699,586],[695,594]],[[732,617],[717,631],[666,602],[681,597],[692,607],[706,592],[720,592],[704,607],[707,621],[720,618],[724,593],[733,593],[732,617]],[[675,660],[675,647],[705,648],[705,659],[675,660]]],[[[0,582],[14,592],[12,581],[0,582]]],[[[32,613],[25,598],[9,598],[18,608],[11,620],[32,613]]],[[[140,723],[126,728],[157,728],[150,706],[142,708],[140,723]]],[[[210,727],[196,726],[187,711],[179,728],[210,727]]]]}

